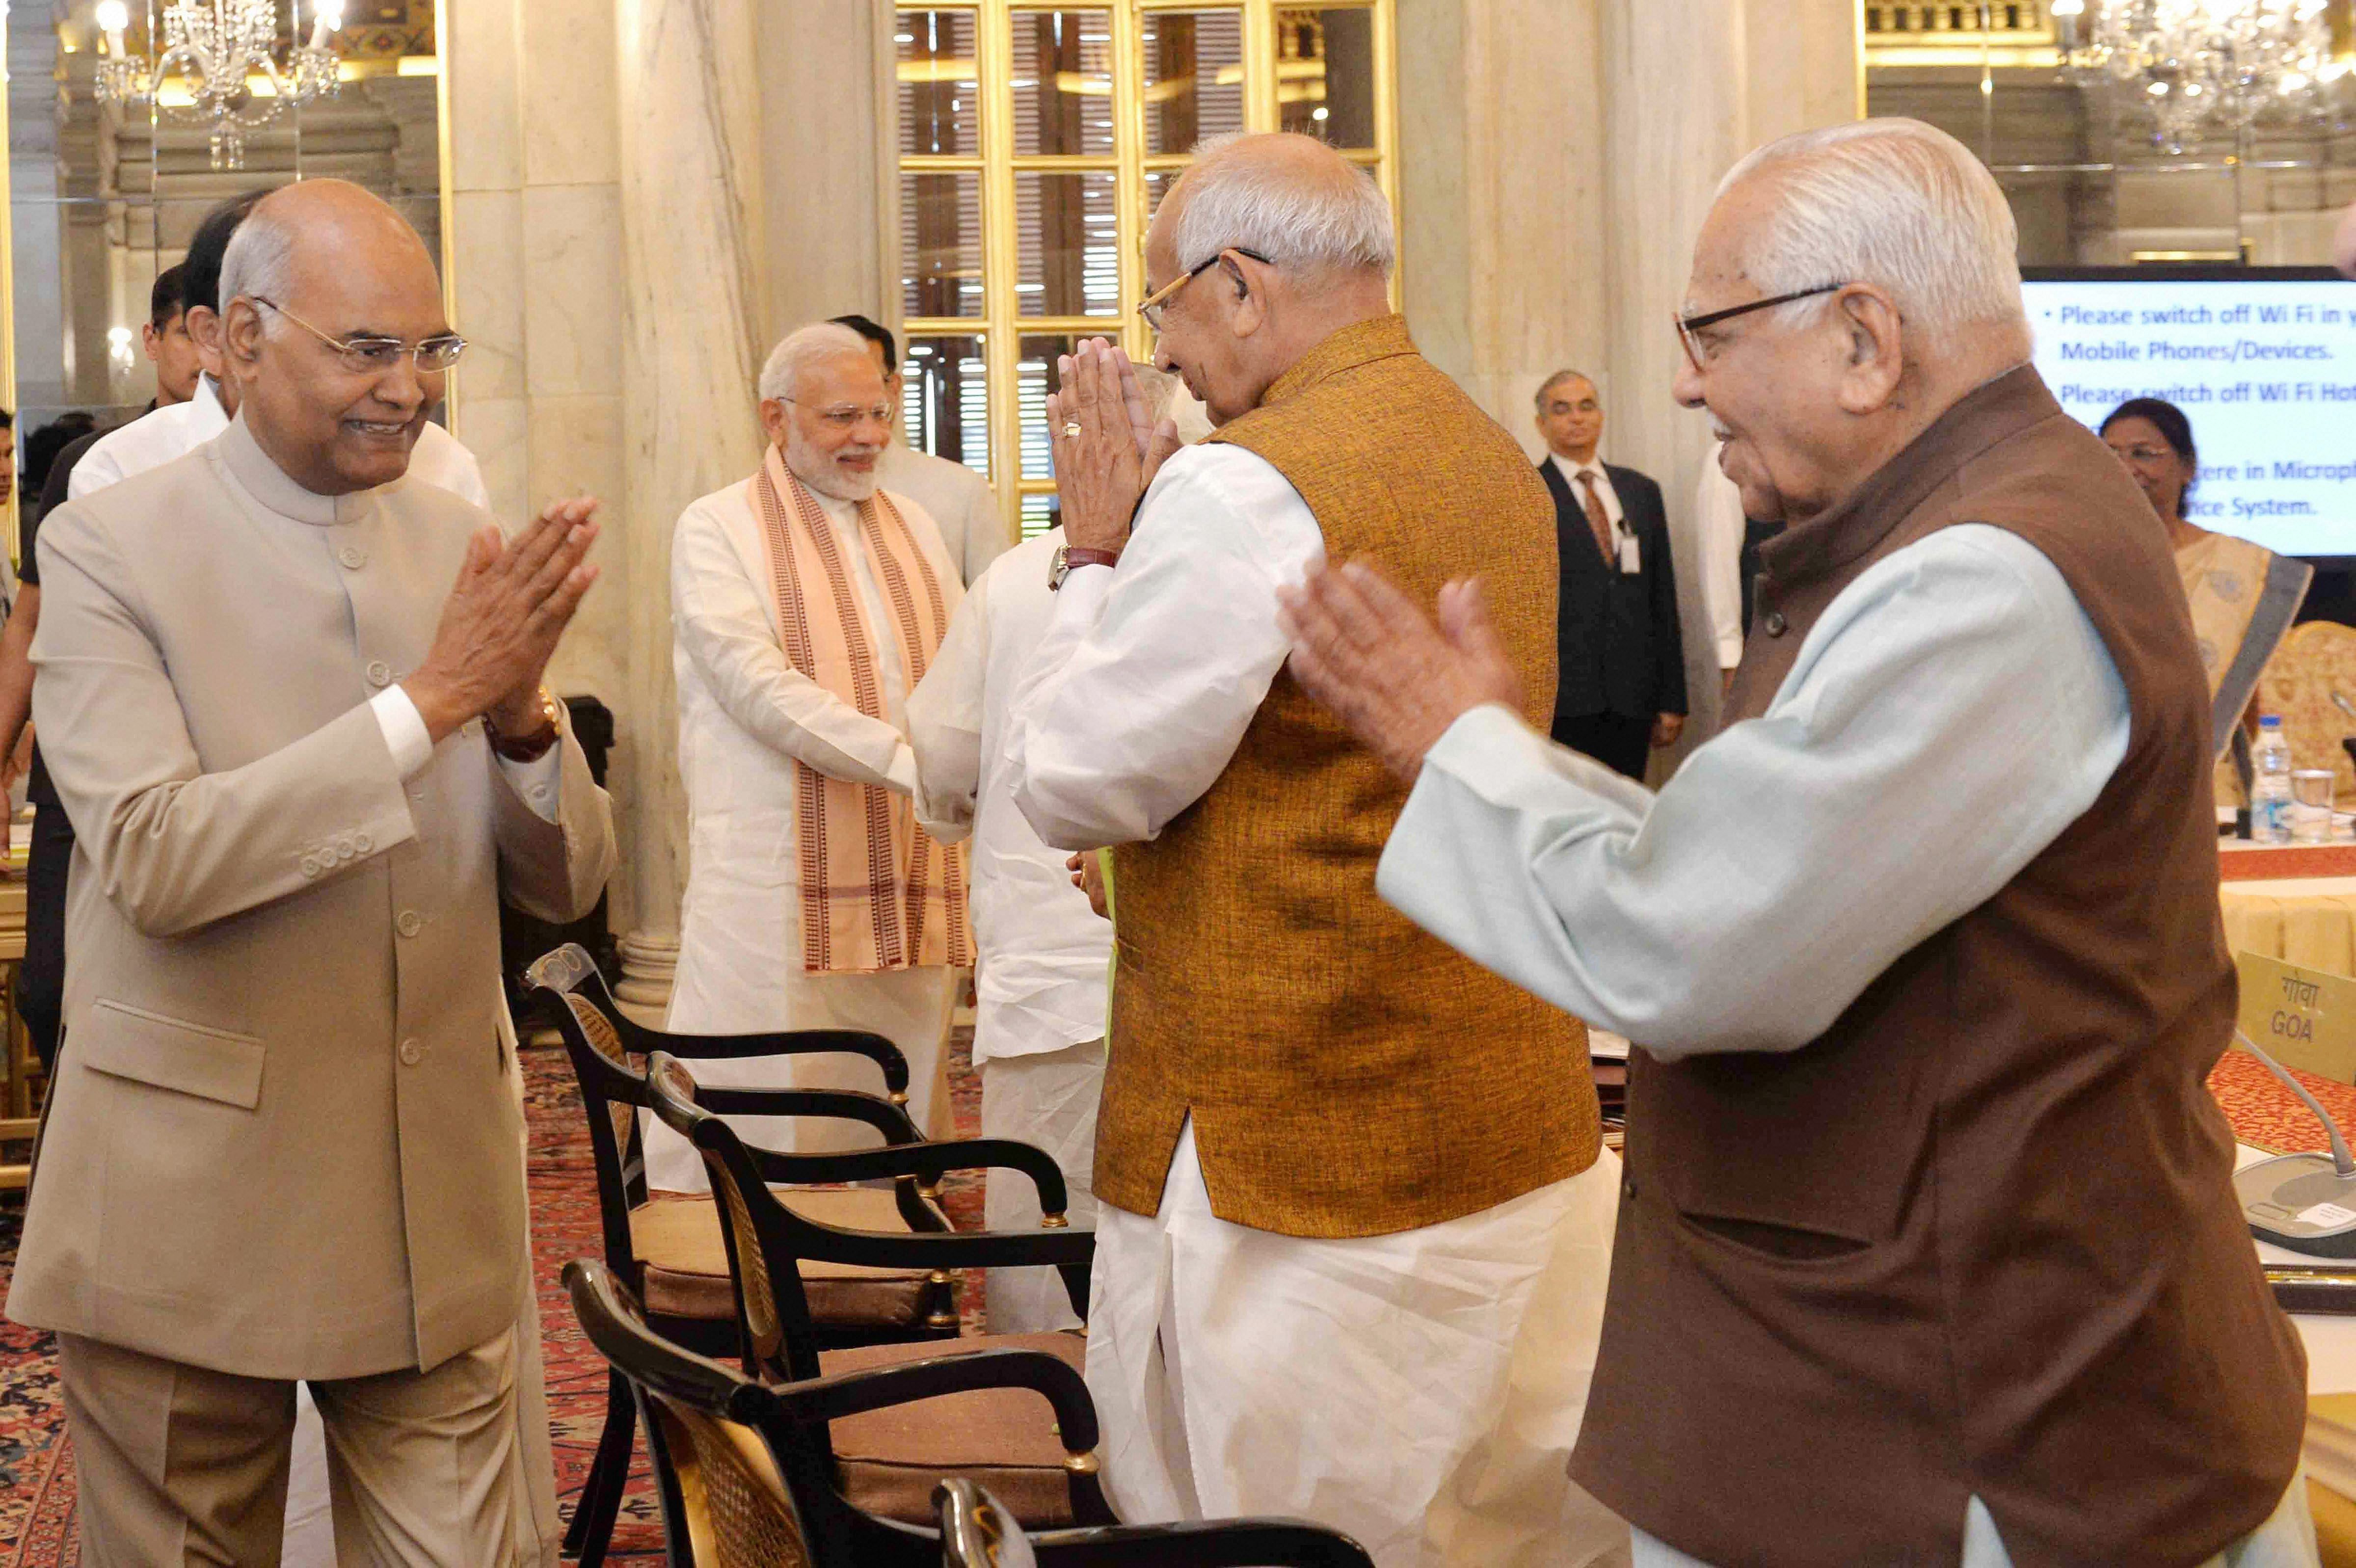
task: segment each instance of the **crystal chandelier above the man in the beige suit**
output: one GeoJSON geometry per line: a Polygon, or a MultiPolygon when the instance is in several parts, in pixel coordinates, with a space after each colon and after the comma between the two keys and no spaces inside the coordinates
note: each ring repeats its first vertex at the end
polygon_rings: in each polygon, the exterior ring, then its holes
{"type": "Polygon", "coordinates": [[[243,170],[245,132],[337,89],[327,38],[344,26],[344,0],[316,2],[311,40],[302,42],[297,31],[285,66],[278,64],[278,0],[170,0],[163,7],[163,52],[153,61],[132,59],[125,47],[132,16],[123,0],[99,0],[97,21],[106,35],[99,101],[125,108],[163,104],[165,115],[181,125],[210,125],[214,170],[243,170]],[[188,104],[163,97],[172,78],[186,85],[188,104]]]}

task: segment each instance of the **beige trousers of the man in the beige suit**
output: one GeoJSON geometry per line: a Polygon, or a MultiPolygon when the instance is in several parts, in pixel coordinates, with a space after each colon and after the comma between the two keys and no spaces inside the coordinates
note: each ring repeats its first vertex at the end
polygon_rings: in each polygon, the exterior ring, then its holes
{"type": "MultiPolygon", "coordinates": [[[[276,1568],[294,1384],[59,1335],[90,1568],[276,1568]]],[[[514,1330],[434,1370],[313,1382],[342,1568],[509,1568],[514,1330]]]]}

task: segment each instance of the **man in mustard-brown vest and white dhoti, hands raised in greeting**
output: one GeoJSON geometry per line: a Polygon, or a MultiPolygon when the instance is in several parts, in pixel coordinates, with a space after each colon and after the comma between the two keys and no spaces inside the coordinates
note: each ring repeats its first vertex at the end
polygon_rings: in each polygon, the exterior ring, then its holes
{"type": "Polygon", "coordinates": [[[1100,341],[1058,367],[1067,546],[1006,744],[1041,838],[1117,845],[1088,1387],[1129,1519],[1590,1563],[1628,1533],[1564,1474],[1616,1187],[1586,1034],[1383,906],[1407,791],[1282,673],[1277,589],[1374,551],[1423,591],[1489,572],[1553,711],[1553,506],[1407,339],[1390,259],[1333,151],[1213,144],[1143,311],[1218,433],[1171,457],[1100,341]]]}

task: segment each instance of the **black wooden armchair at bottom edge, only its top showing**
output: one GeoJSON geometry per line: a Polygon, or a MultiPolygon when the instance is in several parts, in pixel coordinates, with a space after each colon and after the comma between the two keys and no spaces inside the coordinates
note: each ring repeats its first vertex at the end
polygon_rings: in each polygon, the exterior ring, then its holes
{"type": "Polygon", "coordinates": [[[1348,1535],[1303,1519],[1213,1519],[1025,1535],[973,1481],[942,1481],[942,1568],[1374,1568],[1348,1535]]]}

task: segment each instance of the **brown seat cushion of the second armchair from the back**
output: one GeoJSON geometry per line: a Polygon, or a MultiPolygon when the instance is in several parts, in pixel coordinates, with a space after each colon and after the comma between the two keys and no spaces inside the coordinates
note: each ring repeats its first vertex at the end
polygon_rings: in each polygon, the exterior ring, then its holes
{"type": "MultiPolygon", "coordinates": [[[[818,1366],[832,1377],[978,1349],[1039,1349],[1079,1370],[1088,1342],[1077,1333],[971,1335],[949,1344],[865,1344],[822,1351],[818,1366]]],[[[1065,1481],[1055,1410],[1030,1389],[942,1394],[846,1415],[829,1424],[829,1434],[843,1497],[869,1514],[938,1526],[933,1488],[942,1476],[964,1476],[997,1493],[1025,1528],[1072,1523],[1072,1490],[1065,1481]]]]}

